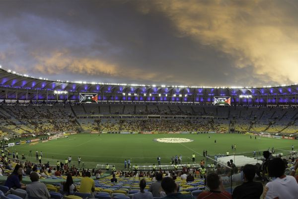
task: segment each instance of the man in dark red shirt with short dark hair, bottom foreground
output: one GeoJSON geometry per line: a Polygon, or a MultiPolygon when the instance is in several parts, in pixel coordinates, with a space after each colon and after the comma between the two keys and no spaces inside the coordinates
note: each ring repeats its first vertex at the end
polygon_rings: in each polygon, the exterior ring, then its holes
{"type": "Polygon", "coordinates": [[[232,196],[224,191],[223,181],[216,173],[208,174],[206,180],[210,191],[202,192],[197,199],[232,199],[232,196]]]}

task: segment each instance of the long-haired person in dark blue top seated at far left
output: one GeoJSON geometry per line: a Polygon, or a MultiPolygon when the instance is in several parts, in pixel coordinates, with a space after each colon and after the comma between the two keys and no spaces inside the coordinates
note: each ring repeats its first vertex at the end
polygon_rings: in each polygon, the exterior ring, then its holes
{"type": "Polygon", "coordinates": [[[7,177],[5,186],[14,189],[26,189],[26,185],[22,184],[22,170],[23,167],[19,164],[16,164],[13,172],[7,177]]]}

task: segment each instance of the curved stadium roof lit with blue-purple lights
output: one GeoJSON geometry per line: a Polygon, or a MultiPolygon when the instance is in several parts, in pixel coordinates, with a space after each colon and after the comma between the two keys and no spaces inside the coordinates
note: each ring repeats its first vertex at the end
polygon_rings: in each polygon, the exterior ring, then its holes
{"type": "Polygon", "coordinates": [[[67,82],[34,78],[0,68],[0,90],[0,99],[16,100],[55,100],[56,97],[57,100],[78,100],[79,93],[97,93],[102,100],[211,102],[215,96],[231,96],[234,101],[255,99],[260,103],[261,99],[263,102],[269,99],[273,103],[277,100],[296,103],[298,85],[221,88],[67,82]]]}

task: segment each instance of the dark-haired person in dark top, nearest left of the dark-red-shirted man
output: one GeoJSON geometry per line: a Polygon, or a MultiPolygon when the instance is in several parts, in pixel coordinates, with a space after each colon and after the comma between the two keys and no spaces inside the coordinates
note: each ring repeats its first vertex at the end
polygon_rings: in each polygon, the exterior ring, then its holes
{"type": "Polygon", "coordinates": [[[175,181],[171,178],[164,178],[161,181],[161,188],[166,194],[163,199],[191,199],[191,195],[182,195],[179,191],[179,187],[175,181]]]}

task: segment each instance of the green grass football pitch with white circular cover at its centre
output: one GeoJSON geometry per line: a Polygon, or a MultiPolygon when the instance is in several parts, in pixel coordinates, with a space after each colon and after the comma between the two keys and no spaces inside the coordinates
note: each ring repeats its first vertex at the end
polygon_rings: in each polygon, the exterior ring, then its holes
{"type": "MultiPolygon", "coordinates": [[[[77,158],[81,157],[85,168],[95,168],[97,164],[115,164],[116,169],[124,168],[124,160],[131,159],[131,164],[157,164],[157,156],[161,157],[161,164],[169,164],[172,156],[182,155],[182,163],[191,162],[191,156],[196,155],[196,161],[203,159],[203,150],[208,155],[246,153],[252,156],[253,151],[264,151],[274,147],[276,152],[287,154],[292,145],[298,147],[298,140],[276,139],[243,134],[75,134],[69,138],[49,140],[10,147],[12,152],[25,154],[26,160],[36,161],[35,151],[43,152],[42,163],[50,162],[56,165],[57,160],[64,163],[72,156],[72,165],[78,167],[77,158]],[[210,138],[209,138],[210,137],[210,138]],[[186,138],[192,140],[185,143],[156,142],[157,138],[186,138]],[[215,143],[216,140],[216,143],[215,143]],[[231,145],[236,150],[231,150],[231,145]],[[32,150],[32,157],[29,151],[32,150]]],[[[261,153],[262,154],[262,153],[261,153]]],[[[80,165],[80,167],[82,164],[80,165]]]]}

